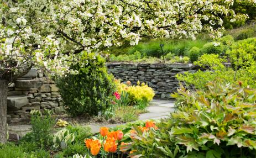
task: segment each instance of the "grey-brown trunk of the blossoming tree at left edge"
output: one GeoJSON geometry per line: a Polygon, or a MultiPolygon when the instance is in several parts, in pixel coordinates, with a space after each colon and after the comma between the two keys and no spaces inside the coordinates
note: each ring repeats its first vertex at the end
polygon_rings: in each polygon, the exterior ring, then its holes
{"type": "Polygon", "coordinates": [[[7,141],[7,89],[8,81],[0,80],[0,144],[7,141]]]}

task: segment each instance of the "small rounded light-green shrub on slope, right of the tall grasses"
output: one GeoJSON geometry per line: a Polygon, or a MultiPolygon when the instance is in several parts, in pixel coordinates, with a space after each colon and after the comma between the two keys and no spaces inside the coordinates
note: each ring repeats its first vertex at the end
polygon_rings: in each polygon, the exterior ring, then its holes
{"type": "Polygon", "coordinates": [[[218,54],[221,55],[224,52],[224,46],[218,42],[206,43],[203,48],[200,49],[201,54],[218,54]]]}

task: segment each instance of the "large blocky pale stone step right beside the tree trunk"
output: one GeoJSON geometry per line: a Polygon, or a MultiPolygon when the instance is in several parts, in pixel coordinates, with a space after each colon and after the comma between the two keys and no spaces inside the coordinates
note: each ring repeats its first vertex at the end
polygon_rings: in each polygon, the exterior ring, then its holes
{"type": "Polygon", "coordinates": [[[29,104],[27,96],[9,96],[7,97],[8,108],[20,109],[29,104]]]}

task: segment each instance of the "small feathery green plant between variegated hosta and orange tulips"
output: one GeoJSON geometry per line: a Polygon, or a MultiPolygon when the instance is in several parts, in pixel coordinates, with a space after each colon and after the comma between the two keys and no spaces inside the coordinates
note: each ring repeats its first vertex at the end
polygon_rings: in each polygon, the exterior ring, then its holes
{"type": "Polygon", "coordinates": [[[92,134],[91,128],[88,126],[81,127],[79,125],[76,125],[76,126],[68,125],[66,129],[69,130],[70,133],[73,133],[75,135],[74,142],[80,143],[82,145],[84,145],[83,140],[85,140],[85,138],[87,138],[92,134]]]}

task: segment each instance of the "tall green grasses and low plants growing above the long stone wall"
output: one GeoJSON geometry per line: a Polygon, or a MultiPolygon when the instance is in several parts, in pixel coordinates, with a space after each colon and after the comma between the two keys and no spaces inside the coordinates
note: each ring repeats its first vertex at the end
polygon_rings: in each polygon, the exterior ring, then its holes
{"type": "MultiPolygon", "coordinates": [[[[180,60],[179,57],[174,59],[174,56],[184,56],[187,55],[189,50],[196,46],[197,48],[202,48],[206,43],[206,40],[148,40],[144,43],[139,43],[138,45],[132,46],[127,50],[127,54],[114,56],[111,55],[111,61],[134,61],[134,62],[148,62],[149,57],[157,57],[153,62],[160,62],[162,60],[162,51],[159,44],[164,44],[163,52],[165,59],[169,62],[187,62],[187,58],[180,60]],[[136,55],[140,52],[140,55],[136,55]],[[157,60],[161,59],[161,60],[157,60]]],[[[113,52],[114,53],[114,52],[113,52]]],[[[152,58],[153,59],[153,58],[152,58]]]]}

